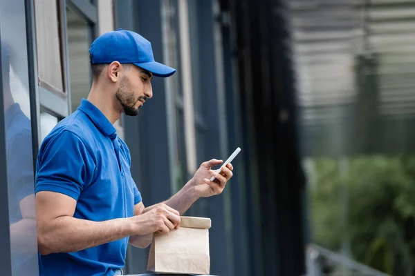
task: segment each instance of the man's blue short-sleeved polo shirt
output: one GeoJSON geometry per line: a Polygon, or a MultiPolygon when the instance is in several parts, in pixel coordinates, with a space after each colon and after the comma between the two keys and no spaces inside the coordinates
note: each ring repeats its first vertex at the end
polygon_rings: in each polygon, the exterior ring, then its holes
{"type": "MultiPolygon", "coordinates": [[[[77,201],[73,217],[104,221],[132,217],[141,201],[127,145],[91,102],[82,100],[44,139],[37,158],[36,193],[77,201]]],[[[82,235],[82,233],[80,233],[82,235]]],[[[40,275],[114,275],[124,266],[129,238],[75,253],[39,255],[40,275]]]]}

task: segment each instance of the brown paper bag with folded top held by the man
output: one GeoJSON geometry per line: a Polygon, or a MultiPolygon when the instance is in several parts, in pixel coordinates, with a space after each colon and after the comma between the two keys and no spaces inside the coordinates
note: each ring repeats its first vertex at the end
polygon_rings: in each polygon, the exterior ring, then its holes
{"type": "Polygon", "coordinates": [[[181,217],[180,227],[154,233],[147,270],[156,273],[209,274],[209,228],[205,217],[181,217]]]}

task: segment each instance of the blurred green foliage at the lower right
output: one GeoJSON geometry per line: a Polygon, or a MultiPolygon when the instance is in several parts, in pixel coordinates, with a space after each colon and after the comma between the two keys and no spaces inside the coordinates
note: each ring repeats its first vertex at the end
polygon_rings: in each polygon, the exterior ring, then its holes
{"type": "Polygon", "coordinates": [[[415,275],[415,157],[311,159],[314,242],[389,275],[415,275]],[[344,244],[344,243],[343,243],[344,244]]]}

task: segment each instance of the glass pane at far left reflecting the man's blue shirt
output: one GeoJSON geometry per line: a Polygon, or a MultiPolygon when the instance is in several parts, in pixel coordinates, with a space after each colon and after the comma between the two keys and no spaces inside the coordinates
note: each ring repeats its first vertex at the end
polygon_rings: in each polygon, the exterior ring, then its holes
{"type": "Polygon", "coordinates": [[[0,0],[1,77],[13,276],[39,274],[24,19],[23,0],[0,0]]]}

